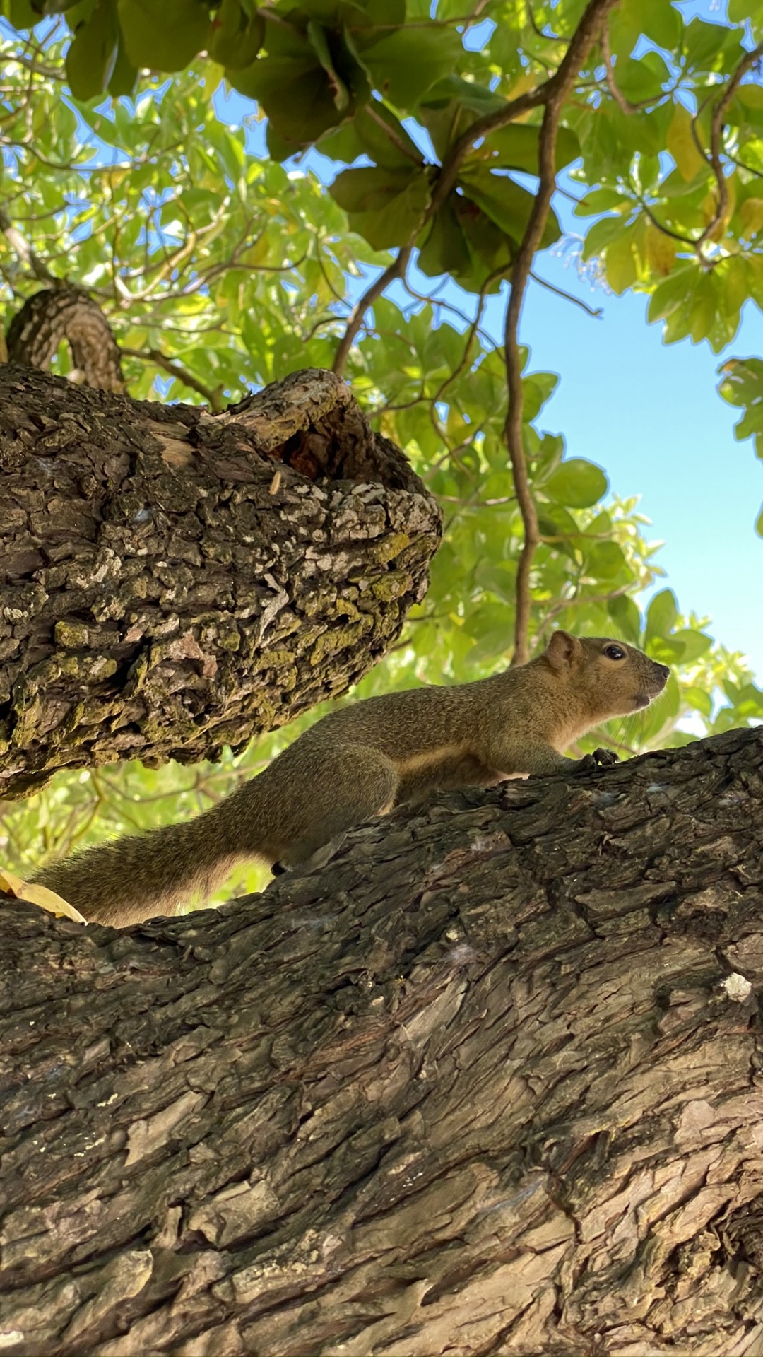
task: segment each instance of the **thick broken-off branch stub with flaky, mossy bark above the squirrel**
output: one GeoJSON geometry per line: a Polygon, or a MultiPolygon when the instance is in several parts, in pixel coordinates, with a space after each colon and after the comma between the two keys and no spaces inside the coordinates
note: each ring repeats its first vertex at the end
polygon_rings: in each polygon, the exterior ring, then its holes
{"type": "Polygon", "coordinates": [[[343,692],[440,513],[329,372],[212,417],[0,366],[0,795],[215,759],[343,692]]]}

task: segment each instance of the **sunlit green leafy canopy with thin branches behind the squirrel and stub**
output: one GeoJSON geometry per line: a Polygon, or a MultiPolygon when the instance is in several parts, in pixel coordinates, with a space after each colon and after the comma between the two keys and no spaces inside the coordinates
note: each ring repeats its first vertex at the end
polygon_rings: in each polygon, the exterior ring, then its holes
{"type": "MultiPolygon", "coordinates": [[[[649,712],[612,723],[618,749],[763,716],[743,658],[688,611],[701,598],[639,608],[660,575],[648,522],[565,456],[544,410],[558,377],[519,345],[521,280],[570,198],[581,267],[649,293],[667,342],[720,351],[763,308],[763,4],[706,22],[665,0],[5,3],[7,319],[76,284],[130,395],[215,410],[333,366],[440,498],[430,590],[361,695],[479,677],[563,626],[673,668],[649,712]]],[[[760,456],[760,360],[726,358],[720,391],[760,456]]],[[[4,852],[23,868],[41,840],[92,837],[96,813],[147,826],[234,778],[231,761],[61,776],[7,816],[4,852]]]]}

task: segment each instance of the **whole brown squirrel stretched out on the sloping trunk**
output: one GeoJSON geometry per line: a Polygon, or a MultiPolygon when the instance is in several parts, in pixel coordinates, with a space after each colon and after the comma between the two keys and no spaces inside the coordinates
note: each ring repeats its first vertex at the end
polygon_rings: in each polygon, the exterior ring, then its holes
{"type": "Polygon", "coordinates": [[[232,867],[322,866],[352,825],[433,791],[615,763],[562,750],[608,716],[649,706],[669,669],[607,638],[555,631],[525,665],[453,687],[367,697],[318,721],[257,778],[186,824],[128,835],[33,879],[88,921],[124,927],[208,898],[232,867]]]}

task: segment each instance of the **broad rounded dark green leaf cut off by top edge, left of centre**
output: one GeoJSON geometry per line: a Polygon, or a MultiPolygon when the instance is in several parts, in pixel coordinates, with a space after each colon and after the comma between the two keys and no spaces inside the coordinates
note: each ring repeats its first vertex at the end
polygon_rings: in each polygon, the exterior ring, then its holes
{"type": "Polygon", "coordinates": [[[138,69],[182,71],[209,42],[201,0],[118,0],[117,11],[128,60],[138,69]]]}

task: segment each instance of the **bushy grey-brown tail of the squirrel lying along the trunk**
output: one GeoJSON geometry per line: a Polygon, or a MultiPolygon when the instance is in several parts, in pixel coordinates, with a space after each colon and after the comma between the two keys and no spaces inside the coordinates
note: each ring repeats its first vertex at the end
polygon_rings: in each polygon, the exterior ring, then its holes
{"type": "MultiPolygon", "coordinates": [[[[33,878],[80,911],[88,923],[124,928],[155,915],[174,913],[197,892],[209,897],[243,856],[223,832],[220,811],[125,835],[50,863],[33,878]]],[[[265,855],[263,855],[265,856],[265,855]]]]}

